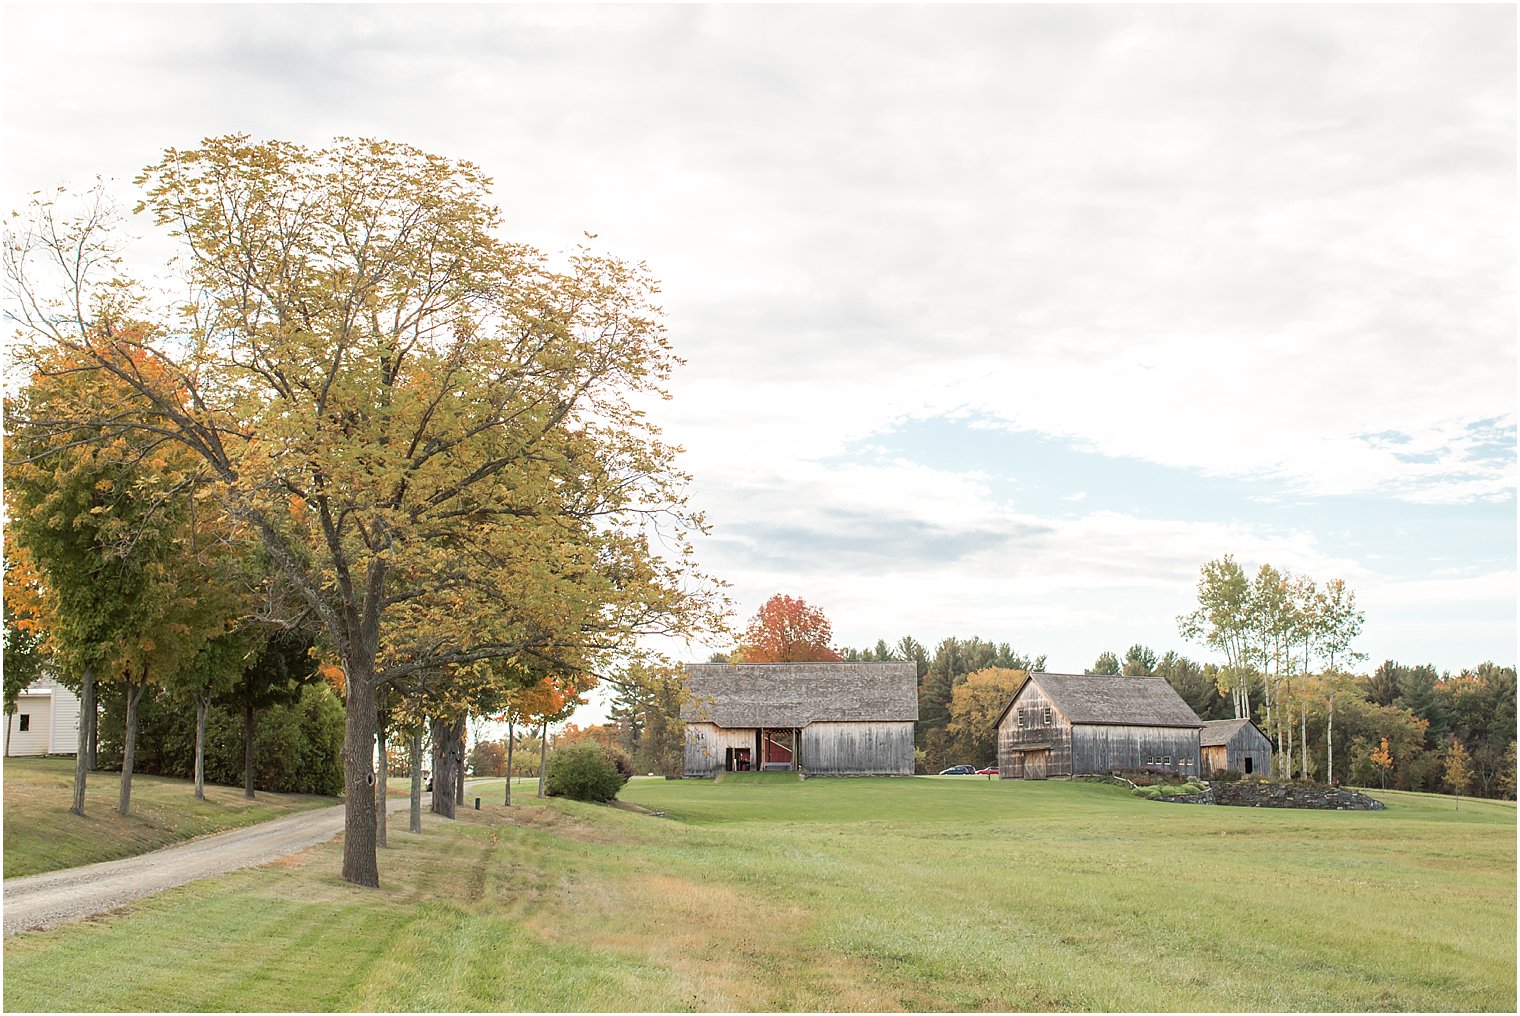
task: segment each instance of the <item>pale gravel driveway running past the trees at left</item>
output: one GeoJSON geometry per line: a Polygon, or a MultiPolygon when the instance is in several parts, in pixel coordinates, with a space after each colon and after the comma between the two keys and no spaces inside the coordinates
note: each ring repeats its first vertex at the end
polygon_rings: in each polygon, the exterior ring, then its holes
{"type": "MultiPolygon", "coordinates": [[[[392,812],[409,806],[406,794],[391,795],[386,802],[386,811],[392,812]]],[[[423,808],[426,812],[426,795],[423,808]]],[[[336,805],[219,832],[135,858],[6,879],[5,934],[52,928],[195,879],[264,864],[327,843],[342,830],[344,806],[336,805]]]]}

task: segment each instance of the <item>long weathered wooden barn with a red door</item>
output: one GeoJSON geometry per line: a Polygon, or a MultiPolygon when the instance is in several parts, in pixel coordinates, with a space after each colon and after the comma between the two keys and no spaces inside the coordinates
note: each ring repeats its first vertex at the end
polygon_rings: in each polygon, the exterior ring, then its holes
{"type": "Polygon", "coordinates": [[[912,776],[914,663],[687,663],[686,774],[912,776]]]}

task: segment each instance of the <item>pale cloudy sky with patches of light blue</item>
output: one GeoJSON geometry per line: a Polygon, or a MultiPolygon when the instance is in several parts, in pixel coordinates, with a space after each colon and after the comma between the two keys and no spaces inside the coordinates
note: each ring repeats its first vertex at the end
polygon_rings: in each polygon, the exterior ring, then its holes
{"type": "MultiPolygon", "coordinates": [[[[1178,634],[1231,554],[1515,662],[1511,6],[0,9],[0,196],[167,146],[468,158],[661,280],[736,624],[1178,634]]],[[[8,210],[9,210],[8,208],[8,210]]],[[[669,646],[705,659],[725,645],[669,646]]]]}

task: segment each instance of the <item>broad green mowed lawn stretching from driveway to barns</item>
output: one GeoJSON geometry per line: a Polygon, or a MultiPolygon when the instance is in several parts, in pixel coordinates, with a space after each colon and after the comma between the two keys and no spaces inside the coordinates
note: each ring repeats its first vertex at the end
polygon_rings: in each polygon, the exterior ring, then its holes
{"type": "Polygon", "coordinates": [[[380,890],[328,844],[8,938],[5,1007],[1514,1011],[1512,803],[635,779],[660,818],[476,792],[420,837],[392,820],[380,890]]]}

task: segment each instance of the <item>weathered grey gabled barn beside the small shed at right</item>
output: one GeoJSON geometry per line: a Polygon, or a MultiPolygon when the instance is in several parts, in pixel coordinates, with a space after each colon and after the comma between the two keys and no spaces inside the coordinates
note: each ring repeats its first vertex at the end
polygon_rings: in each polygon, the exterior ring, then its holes
{"type": "Polygon", "coordinates": [[[1204,721],[1160,677],[1029,674],[997,718],[1003,779],[1157,765],[1196,776],[1204,721]]]}

